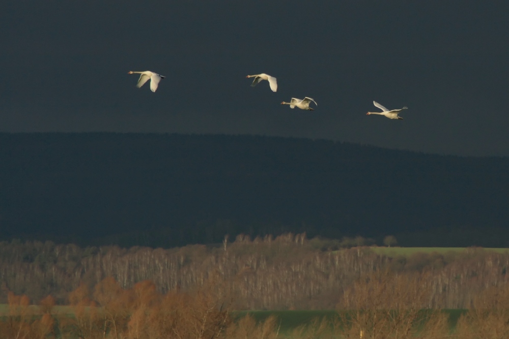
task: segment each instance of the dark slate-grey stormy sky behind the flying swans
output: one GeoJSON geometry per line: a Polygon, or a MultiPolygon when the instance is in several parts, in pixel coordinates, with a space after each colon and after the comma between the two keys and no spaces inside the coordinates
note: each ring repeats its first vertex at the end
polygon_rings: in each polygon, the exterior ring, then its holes
{"type": "Polygon", "coordinates": [[[0,131],[328,138],[509,156],[507,6],[45,1],[0,10],[0,131]],[[154,94],[135,87],[151,70],[154,94]],[[251,88],[247,74],[277,77],[251,88]],[[314,98],[314,112],[281,101],[314,98]],[[376,100],[404,120],[367,116],[376,100]]]}

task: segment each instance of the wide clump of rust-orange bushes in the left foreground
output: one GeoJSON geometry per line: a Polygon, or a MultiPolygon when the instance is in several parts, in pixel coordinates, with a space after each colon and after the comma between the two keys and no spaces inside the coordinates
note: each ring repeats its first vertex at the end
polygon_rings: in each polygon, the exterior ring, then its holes
{"type": "Polygon", "coordinates": [[[62,319],[59,332],[64,338],[213,339],[232,323],[229,303],[216,291],[212,279],[193,293],[161,295],[150,281],[124,290],[106,278],[95,286],[93,301],[83,285],[71,293],[75,317],[62,319]]]}

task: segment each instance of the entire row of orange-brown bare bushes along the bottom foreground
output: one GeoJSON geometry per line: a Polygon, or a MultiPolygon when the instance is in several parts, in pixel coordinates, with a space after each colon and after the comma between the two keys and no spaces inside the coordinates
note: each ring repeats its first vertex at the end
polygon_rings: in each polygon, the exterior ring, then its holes
{"type": "Polygon", "coordinates": [[[122,288],[108,277],[93,289],[80,284],[68,295],[65,311],[52,296],[39,306],[25,295],[8,293],[0,318],[0,339],[499,339],[509,335],[509,290],[491,286],[475,296],[451,323],[440,308],[427,309],[432,288],[426,274],[383,269],[364,273],[345,290],[333,318],[280,331],[271,316],[255,321],[232,317],[235,297],[218,275],[188,291],[157,291],[152,281],[122,288]]]}

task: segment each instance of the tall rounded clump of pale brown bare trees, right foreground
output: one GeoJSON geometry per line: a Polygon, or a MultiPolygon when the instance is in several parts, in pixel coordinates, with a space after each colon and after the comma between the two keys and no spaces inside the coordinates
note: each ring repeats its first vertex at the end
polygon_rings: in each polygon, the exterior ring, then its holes
{"type": "Polygon", "coordinates": [[[345,293],[338,308],[347,312],[341,332],[346,338],[429,338],[448,332],[447,315],[426,310],[430,274],[377,271],[362,276],[345,293]]]}

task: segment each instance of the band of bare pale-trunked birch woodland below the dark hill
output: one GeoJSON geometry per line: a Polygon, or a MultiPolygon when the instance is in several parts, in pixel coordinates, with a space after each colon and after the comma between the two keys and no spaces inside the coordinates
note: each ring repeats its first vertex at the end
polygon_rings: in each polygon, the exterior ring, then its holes
{"type": "MultiPolygon", "coordinates": [[[[235,310],[350,309],[353,284],[362,275],[408,275],[430,291],[419,308],[466,308],[489,288],[509,286],[509,254],[377,255],[368,247],[329,251],[304,234],[250,239],[239,235],[217,247],[174,249],[117,246],[79,248],[46,242],[0,243],[0,303],[9,291],[38,302],[48,294],[67,303],[81,283],[90,290],[112,277],[124,289],[150,280],[159,293],[192,291],[214,279],[235,310]]],[[[408,283],[410,284],[410,283],[408,283]]]]}

